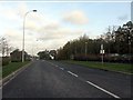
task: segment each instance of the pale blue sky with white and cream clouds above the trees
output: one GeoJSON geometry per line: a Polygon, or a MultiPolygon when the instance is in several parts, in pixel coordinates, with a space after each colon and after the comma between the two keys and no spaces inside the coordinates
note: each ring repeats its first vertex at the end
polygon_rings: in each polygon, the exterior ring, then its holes
{"type": "Polygon", "coordinates": [[[109,26],[126,23],[131,20],[131,2],[0,1],[0,37],[20,50],[27,12],[24,48],[35,54],[40,50],[59,49],[83,34],[98,38],[109,26]],[[34,9],[38,11],[32,12],[34,9]]]}

